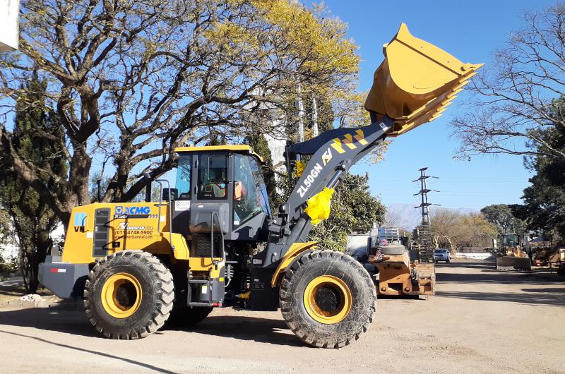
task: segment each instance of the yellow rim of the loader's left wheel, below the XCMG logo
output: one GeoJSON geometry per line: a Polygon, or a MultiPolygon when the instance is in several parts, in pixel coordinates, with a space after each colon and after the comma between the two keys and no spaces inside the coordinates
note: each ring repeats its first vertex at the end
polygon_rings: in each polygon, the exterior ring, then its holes
{"type": "Polygon", "coordinates": [[[112,275],[102,286],[102,306],[114,318],[126,318],[136,313],[141,296],[141,284],[125,272],[112,275]]]}

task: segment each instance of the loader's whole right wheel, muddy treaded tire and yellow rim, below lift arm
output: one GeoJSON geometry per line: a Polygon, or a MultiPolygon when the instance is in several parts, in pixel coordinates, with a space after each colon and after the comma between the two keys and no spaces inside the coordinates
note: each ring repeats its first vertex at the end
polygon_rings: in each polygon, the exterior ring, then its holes
{"type": "Polygon", "coordinates": [[[375,301],[367,270],[335,251],[305,253],[280,285],[287,326],[311,346],[339,348],[359,339],[373,320],[375,301]]]}

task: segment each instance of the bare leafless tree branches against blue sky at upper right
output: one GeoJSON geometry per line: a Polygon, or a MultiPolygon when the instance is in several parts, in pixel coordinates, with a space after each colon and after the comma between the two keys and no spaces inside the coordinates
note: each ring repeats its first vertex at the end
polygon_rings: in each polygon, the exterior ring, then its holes
{"type": "Polygon", "coordinates": [[[523,20],[524,28],[494,52],[492,67],[468,86],[476,94],[472,109],[451,121],[462,155],[565,159],[565,151],[542,136],[565,126],[565,112],[554,100],[565,94],[565,4],[526,13],[523,20]]]}

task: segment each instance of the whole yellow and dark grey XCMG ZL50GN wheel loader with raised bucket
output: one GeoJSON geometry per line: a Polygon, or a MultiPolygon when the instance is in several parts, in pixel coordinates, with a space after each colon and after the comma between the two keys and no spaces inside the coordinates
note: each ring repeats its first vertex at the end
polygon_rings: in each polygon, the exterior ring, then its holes
{"type": "Polygon", "coordinates": [[[383,47],[365,107],[371,124],[335,128],[287,147],[294,189],[273,215],[263,160],[247,145],[180,147],[174,188],[161,201],[76,207],[61,258],[40,281],[61,298],[84,298],[105,337],[136,339],[168,318],[195,324],[213,308],[280,308],[307,344],[345,346],[367,330],[376,291],[367,270],[308,241],[353,164],[387,136],[436,119],[480,65],[463,64],[412,37],[403,24],[383,47]],[[304,156],[309,162],[304,164],[304,156]],[[262,248],[262,249],[261,249],[262,248]]]}

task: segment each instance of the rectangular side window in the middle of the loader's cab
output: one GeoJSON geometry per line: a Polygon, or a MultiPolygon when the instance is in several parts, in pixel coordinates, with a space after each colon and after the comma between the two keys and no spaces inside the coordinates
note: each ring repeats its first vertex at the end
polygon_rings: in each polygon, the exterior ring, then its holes
{"type": "Polygon", "coordinates": [[[198,199],[223,200],[227,195],[227,155],[198,157],[198,199]]]}

